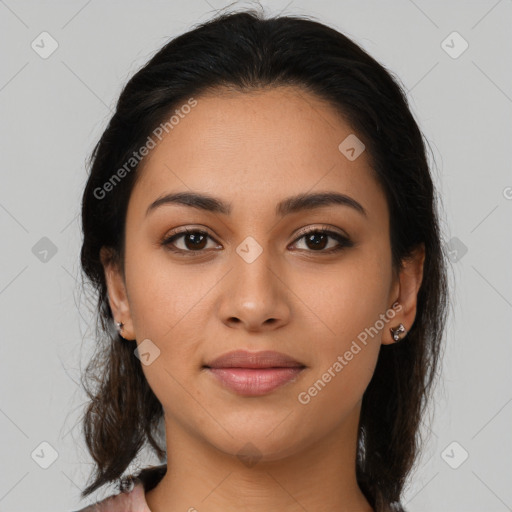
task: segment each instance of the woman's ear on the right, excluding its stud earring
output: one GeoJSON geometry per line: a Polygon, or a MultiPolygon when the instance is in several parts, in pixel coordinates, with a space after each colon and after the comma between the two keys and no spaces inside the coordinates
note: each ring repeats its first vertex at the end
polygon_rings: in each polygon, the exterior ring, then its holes
{"type": "MultiPolygon", "coordinates": [[[[406,332],[411,330],[416,318],[418,291],[423,280],[424,262],[425,244],[423,243],[414,249],[410,257],[407,257],[402,262],[402,268],[397,278],[395,278],[395,286],[393,286],[392,293],[390,294],[390,303],[397,303],[393,308],[396,314],[382,333],[383,345],[398,343],[393,339],[389,330],[390,327],[396,328],[402,323],[406,332]]],[[[403,339],[403,334],[401,339],[403,339]]]]}

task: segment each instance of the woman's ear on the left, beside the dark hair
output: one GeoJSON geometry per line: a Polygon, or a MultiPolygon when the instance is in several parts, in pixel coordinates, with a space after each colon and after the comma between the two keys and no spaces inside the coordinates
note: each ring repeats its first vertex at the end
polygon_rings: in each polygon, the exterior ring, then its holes
{"type": "Polygon", "coordinates": [[[105,281],[107,283],[108,301],[114,322],[122,322],[122,337],[126,340],[134,340],[135,332],[130,313],[130,304],[124,275],[120,269],[119,262],[114,257],[112,249],[102,247],[100,249],[100,260],[105,272],[105,281]]]}

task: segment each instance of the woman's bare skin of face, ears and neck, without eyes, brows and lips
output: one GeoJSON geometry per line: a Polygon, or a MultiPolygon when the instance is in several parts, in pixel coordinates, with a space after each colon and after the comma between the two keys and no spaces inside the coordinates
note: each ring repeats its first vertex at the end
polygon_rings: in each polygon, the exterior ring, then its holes
{"type": "MultiPolygon", "coordinates": [[[[355,477],[361,400],[381,345],[394,342],[389,328],[414,322],[423,248],[393,272],[384,192],[366,151],[350,161],[338,149],[354,131],[330,105],[293,87],[217,91],[197,101],[137,171],[124,276],[102,250],[123,337],[148,338],[160,350],[142,368],[165,412],[168,470],[146,494],[148,505],[371,511],[355,477]],[[179,191],[208,193],[232,212],[167,204],[146,216],[155,199],[179,191]],[[367,216],[329,205],[276,217],[279,201],[318,191],[349,195],[367,216]],[[353,246],[329,255],[335,239],[318,249],[300,237],[301,228],[326,224],[353,246]],[[161,245],[176,228],[211,238],[201,254],[179,256],[161,245]],[[248,236],[263,250],[252,263],[236,252],[248,236]],[[400,311],[378,335],[300,403],[299,393],[396,302],[400,311]],[[235,349],[277,350],[306,369],[267,395],[239,396],[202,368],[235,349]],[[244,463],[241,450],[259,459],[244,463]]],[[[194,251],[186,236],[174,246],[194,251]]]]}

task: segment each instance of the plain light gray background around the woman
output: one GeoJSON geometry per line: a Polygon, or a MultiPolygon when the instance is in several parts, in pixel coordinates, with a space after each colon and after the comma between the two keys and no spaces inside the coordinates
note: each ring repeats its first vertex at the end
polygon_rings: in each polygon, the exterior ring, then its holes
{"type": "MultiPolygon", "coordinates": [[[[512,510],[512,2],[262,4],[315,16],[396,73],[433,149],[453,305],[431,437],[404,504],[512,510]],[[445,51],[463,48],[446,40],[453,31],[469,44],[457,58],[445,51]]],[[[1,512],[76,510],[108,494],[78,500],[92,467],[77,424],[93,334],[78,259],[85,160],[126,80],[225,5],[0,0],[1,512]],[[46,59],[31,47],[43,31],[58,43],[46,59]],[[58,453],[47,469],[41,443],[58,453]]],[[[157,460],[133,467],[147,463],[157,460]]]]}

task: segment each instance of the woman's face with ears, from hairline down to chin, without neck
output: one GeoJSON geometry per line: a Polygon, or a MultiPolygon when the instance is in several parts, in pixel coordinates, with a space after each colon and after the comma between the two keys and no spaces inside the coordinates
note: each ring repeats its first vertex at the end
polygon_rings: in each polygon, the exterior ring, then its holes
{"type": "Polygon", "coordinates": [[[168,429],[277,459],[358,414],[389,328],[414,320],[421,277],[393,273],[384,192],[365,151],[339,149],[354,131],[332,107],[291,87],[196,100],[137,170],[125,279],[106,267],[110,304],[123,336],[145,343],[168,429]],[[177,193],[224,211],[150,207],[177,193]],[[341,199],[287,201],[319,193],[341,199]],[[242,394],[204,367],[234,350],[302,369],[242,394]]]}

